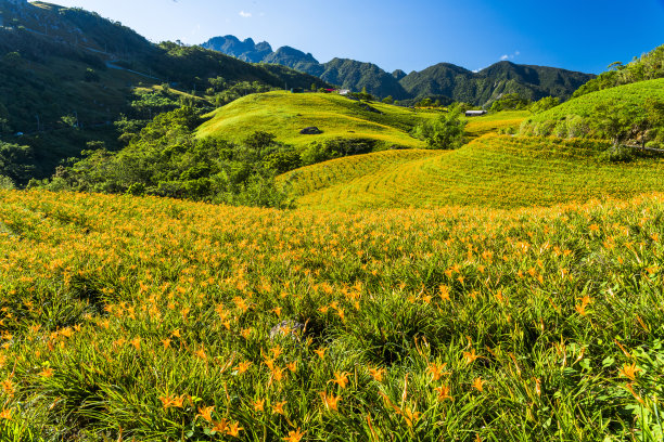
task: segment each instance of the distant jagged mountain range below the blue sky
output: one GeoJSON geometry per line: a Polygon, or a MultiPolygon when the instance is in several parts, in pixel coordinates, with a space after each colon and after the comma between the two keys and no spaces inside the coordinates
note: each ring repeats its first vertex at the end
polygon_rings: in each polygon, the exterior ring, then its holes
{"type": "Polygon", "coordinates": [[[440,63],[421,72],[390,74],[372,63],[348,58],[318,62],[312,54],[295,48],[272,50],[266,42],[234,36],[215,37],[203,48],[222,52],[248,63],[279,64],[306,73],[345,89],[367,91],[385,98],[413,101],[423,98],[447,98],[450,101],[487,105],[506,93],[519,93],[529,100],[557,96],[567,100],[595,75],[545,66],[499,62],[480,72],[440,63]]]}

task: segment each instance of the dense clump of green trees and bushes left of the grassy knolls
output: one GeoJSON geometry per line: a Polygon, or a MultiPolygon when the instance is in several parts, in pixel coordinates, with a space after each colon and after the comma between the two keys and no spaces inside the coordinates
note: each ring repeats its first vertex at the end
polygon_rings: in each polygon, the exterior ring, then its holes
{"type": "Polygon", "coordinates": [[[253,206],[289,205],[276,190],[273,177],[299,167],[297,153],[265,132],[252,134],[242,145],[196,140],[193,130],[200,122],[190,107],[161,114],[131,134],[126,148],[112,153],[95,145],[84,152],[86,158],[59,170],[46,185],[253,206]]]}

